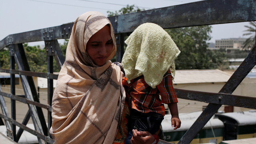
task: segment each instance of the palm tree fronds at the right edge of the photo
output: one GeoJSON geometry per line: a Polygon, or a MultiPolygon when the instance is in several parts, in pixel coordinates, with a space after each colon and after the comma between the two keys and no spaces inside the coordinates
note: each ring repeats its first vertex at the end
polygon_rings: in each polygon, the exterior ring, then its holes
{"type": "Polygon", "coordinates": [[[248,28],[247,30],[244,30],[246,32],[243,34],[243,36],[248,36],[250,35],[249,38],[246,39],[244,42],[243,49],[249,50],[252,49],[255,46],[255,34],[256,34],[256,22],[250,22],[251,26],[244,26],[248,28]]]}

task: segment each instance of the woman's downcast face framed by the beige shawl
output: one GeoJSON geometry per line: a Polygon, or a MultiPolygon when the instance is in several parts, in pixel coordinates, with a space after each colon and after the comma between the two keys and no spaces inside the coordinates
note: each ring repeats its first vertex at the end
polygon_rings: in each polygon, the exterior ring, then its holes
{"type": "Polygon", "coordinates": [[[86,44],[86,52],[97,66],[103,66],[113,48],[110,27],[104,26],[96,32],[86,44]]]}

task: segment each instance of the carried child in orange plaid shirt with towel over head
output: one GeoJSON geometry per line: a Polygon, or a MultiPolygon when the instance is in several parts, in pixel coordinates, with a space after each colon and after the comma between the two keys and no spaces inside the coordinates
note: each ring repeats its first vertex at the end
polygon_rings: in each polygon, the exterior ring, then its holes
{"type": "Polygon", "coordinates": [[[125,144],[130,144],[132,129],[155,134],[164,119],[164,104],[172,114],[172,127],[180,128],[177,96],[172,86],[175,74],[174,59],[180,50],[170,35],[157,24],[145,23],[125,41],[126,51],[122,67],[126,77],[122,84],[131,108],[128,121],[129,135],[125,144]],[[160,96],[161,95],[161,99],[160,96]]]}

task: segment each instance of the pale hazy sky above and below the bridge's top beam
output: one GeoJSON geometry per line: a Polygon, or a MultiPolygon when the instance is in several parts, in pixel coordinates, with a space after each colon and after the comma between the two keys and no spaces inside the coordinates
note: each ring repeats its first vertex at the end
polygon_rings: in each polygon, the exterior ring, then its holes
{"type": "MultiPolygon", "coordinates": [[[[149,10],[196,1],[200,0],[0,0],[0,40],[9,34],[74,22],[88,11],[99,11],[107,16],[107,11],[115,12],[127,4],[149,10]]],[[[223,38],[247,38],[243,36],[245,25],[249,22],[212,25],[212,39],[208,42],[223,38]]],[[[44,42],[29,43],[31,46],[41,44],[44,42]]]]}

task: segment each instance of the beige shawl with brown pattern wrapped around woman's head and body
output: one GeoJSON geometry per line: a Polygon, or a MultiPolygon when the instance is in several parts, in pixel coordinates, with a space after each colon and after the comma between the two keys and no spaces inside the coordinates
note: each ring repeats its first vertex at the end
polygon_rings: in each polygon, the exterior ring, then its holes
{"type": "Polygon", "coordinates": [[[79,16],[72,28],[66,60],[52,98],[50,134],[57,144],[111,144],[122,116],[125,93],[120,67],[109,61],[96,66],[86,52],[86,43],[101,28],[110,24],[100,12],[79,16]]]}

